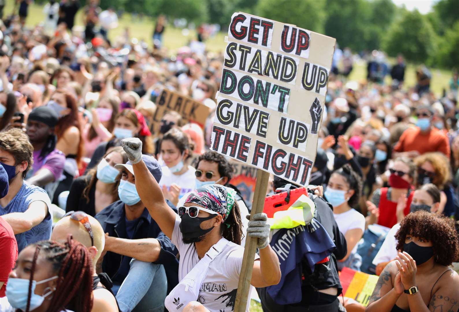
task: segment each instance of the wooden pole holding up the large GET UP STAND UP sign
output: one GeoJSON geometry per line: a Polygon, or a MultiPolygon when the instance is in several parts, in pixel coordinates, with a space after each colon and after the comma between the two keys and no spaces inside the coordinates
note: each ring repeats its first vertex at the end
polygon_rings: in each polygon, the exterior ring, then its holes
{"type": "MultiPolygon", "coordinates": [[[[268,189],[269,173],[261,169],[257,170],[257,183],[255,184],[255,192],[253,195],[252,212],[250,219],[255,213],[263,212],[264,199],[266,190],[268,189]]],[[[241,218],[246,216],[241,216],[241,218]]],[[[244,233],[246,235],[246,233],[244,233]]],[[[246,311],[247,300],[249,299],[250,280],[252,279],[253,262],[255,251],[257,250],[257,238],[247,237],[246,245],[244,246],[244,256],[242,258],[241,275],[239,276],[239,284],[237,285],[236,302],[234,306],[235,312],[246,311]]]]}

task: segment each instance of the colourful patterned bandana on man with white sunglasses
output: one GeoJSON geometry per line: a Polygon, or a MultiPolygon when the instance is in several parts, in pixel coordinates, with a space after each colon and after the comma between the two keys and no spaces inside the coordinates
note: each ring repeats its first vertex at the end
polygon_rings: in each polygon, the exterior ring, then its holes
{"type": "MultiPolygon", "coordinates": [[[[220,184],[203,185],[186,198],[186,203],[191,202],[206,209],[218,212],[223,217],[223,222],[233,208],[236,191],[220,184]]],[[[228,224],[227,224],[228,225],[228,224]]]]}

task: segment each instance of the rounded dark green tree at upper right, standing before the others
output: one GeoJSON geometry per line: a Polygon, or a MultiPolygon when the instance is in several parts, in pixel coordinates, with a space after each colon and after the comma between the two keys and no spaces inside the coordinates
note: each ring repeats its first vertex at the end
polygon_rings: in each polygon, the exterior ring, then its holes
{"type": "Polygon", "coordinates": [[[422,63],[435,56],[437,35],[427,17],[419,11],[406,11],[392,22],[383,40],[383,48],[390,56],[402,53],[409,61],[422,63]]]}

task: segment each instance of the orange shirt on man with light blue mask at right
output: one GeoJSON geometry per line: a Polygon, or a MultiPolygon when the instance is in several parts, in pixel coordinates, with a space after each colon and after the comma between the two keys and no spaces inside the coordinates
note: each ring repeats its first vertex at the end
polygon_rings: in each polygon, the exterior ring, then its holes
{"type": "Polygon", "coordinates": [[[442,152],[450,156],[448,137],[437,128],[432,128],[426,134],[421,133],[419,127],[406,129],[397,144],[394,146],[396,152],[409,152],[417,150],[420,154],[427,152],[442,152]]]}

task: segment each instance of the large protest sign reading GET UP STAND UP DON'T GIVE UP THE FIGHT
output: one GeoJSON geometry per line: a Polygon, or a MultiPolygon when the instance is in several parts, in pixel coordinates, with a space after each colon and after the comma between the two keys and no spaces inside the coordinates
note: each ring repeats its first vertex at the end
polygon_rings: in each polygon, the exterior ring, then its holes
{"type": "Polygon", "coordinates": [[[336,39],[234,13],[211,149],[307,185],[336,39]]]}

